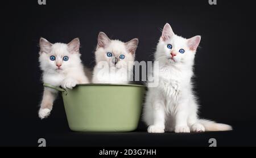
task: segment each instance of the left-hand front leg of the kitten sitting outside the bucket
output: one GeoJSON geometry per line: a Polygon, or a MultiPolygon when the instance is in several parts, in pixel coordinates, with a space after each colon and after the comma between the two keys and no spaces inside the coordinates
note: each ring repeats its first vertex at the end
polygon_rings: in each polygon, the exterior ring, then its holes
{"type": "Polygon", "coordinates": [[[164,133],[165,123],[165,109],[163,101],[156,101],[153,103],[153,117],[154,123],[147,129],[148,133],[164,133]]]}

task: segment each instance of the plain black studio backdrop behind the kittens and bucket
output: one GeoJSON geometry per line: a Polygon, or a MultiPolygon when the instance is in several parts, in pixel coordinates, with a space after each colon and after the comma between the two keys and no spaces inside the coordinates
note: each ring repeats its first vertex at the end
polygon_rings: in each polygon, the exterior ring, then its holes
{"type": "Polygon", "coordinates": [[[3,5],[0,146],[255,146],[255,17],[251,1],[11,1],[3,5]],[[73,133],[61,97],[51,116],[38,118],[43,86],[40,37],[54,42],[80,38],[85,66],[94,66],[98,32],[128,41],[137,37],[137,61],[152,61],[164,24],[177,35],[201,35],[195,61],[200,116],[229,123],[234,131],[203,134],[73,133]],[[7,96],[6,96],[7,94],[7,96]]]}

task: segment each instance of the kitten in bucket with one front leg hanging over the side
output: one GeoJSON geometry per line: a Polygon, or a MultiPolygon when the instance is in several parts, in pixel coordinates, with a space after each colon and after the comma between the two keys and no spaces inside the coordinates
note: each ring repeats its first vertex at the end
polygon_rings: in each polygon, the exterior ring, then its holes
{"type": "MultiPolygon", "coordinates": [[[[79,47],[80,41],[78,38],[72,40],[69,44],[51,44],[46,39],[41,38],[39,62],[43,71],[43,82],[70,89],[78,83],[89,83],[84,74],[79,47]]],[[[41,119],[49,116],[56,96],[56,90],[44,88],[43,100],[39,110],[41,119]]]]}

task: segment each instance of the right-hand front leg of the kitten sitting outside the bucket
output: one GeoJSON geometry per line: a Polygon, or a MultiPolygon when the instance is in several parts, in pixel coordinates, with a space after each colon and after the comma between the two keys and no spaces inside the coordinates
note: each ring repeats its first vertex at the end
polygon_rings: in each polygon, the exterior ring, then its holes
{"type": "Polygon", "coordinates": [[[177,105],[177,112],[175,115],[175,133],[190,133],[188,127],[188,107],[187,102],[177,105]]]}

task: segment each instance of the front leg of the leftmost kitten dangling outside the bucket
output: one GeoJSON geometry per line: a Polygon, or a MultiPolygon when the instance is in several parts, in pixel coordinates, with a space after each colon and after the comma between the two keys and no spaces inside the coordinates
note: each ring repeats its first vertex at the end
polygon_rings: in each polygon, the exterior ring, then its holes
{"type": "Polygon", "coordinates": [[[38,112],[39,118],[47,118],[52,110],[53,101],[56,99],[57,91],[44,88],[43,99],[38,112]]]}

